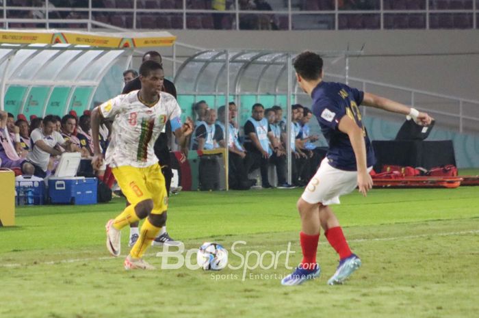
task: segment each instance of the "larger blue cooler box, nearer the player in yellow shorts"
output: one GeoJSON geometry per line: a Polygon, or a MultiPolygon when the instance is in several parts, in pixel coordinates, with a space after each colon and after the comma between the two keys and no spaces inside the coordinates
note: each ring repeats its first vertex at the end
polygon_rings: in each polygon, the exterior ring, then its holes
{"type": "Polygon", "coordinates": [[[51,177],[48,185],[50,203],[96,204],[98,187],[96,178],[51,177]]]}

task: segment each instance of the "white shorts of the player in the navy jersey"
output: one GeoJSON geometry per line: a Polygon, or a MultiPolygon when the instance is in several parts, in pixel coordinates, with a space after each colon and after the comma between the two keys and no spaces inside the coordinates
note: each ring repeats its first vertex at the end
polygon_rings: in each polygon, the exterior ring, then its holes
{"type": "MultiPolygon", "coordinates": [[[[367,168],[367,172],[371,170],[372,167],[367,168]]],[[[358,184],[357,178],[357,171],[333,168],[329,165],[328,159],[324,158],[321,161],[320,168],[302,193],[301,198],[309,204],[340,204],[339,196],[348,194],[356,189],[358,184]]]]}

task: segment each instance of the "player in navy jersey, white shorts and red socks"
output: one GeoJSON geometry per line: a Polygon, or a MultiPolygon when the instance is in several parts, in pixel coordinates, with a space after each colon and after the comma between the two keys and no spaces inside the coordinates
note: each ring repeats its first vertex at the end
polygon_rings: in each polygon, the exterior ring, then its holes
{"type": "Polygon", "coordinates": [[[339,265],[328,284],[342,284],[361,266],[361,259],[351,252],[337,217],[329,207],[339,204],[339,196],[356,187],[363,196],[372,188],[369,172],[374,164],[374,152],[361,122],[359,105],[411,116],[424,126],[431,122],[428,114],[417,109],[342,83],[323,81],[322,66],[322,58],[309,51],[294,59],[296,80],[313,99],[311,109],[328,142],[328,153],[298,200],[303,259],[292,274],[283,278],[283,285],[301,284],[320,275],[320,265],[316,262],[320,228],[339,254],[339,265]]]}

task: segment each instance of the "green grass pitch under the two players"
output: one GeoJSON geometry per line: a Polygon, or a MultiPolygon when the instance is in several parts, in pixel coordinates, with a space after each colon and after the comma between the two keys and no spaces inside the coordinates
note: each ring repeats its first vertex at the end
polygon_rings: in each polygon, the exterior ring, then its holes
{"type": "MultiPolygon", "coordinates": [[[[230,263],[250,255],[263,267],[287,250],[300,259],[300,189],[181,192],[170,198],[168,232],[198,248],[222,243],[230,263]],[[257,251],[257,252],[255,252],[257,251]],[[272,251],[272,252],[268,252],[272,251]],[[256,253],[256,254],[255,254],[256,253]]],[[[337,255],[320,237],[320,278],[283,287],[276,268],[125,271],[105,248],[105,223],[125,206],[21,207],[16,226],[0,228],[0,317],[478,317],[479,187],[355,191],[333,209],[363,266],[341,286],[326,281],[337,255]],[[244,280],[243,280],[244,276],[244,280]]],[[[151,247],[145,259],[161,267],[151,247]]],[[[174,262],[173,262],[174,263],[174,262]]],[[[193,260],[193,263],[196,261],[193,260]]]]}

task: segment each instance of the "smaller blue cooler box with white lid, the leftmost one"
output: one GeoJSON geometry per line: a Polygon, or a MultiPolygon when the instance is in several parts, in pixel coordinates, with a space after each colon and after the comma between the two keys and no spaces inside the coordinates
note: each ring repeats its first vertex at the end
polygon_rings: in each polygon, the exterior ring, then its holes
{"type": "Polygon", "coordinates": [[[15,191],[17,205],[43,204],[45,199],[45,183],[38,176],[16,176],[15,191]]]}

